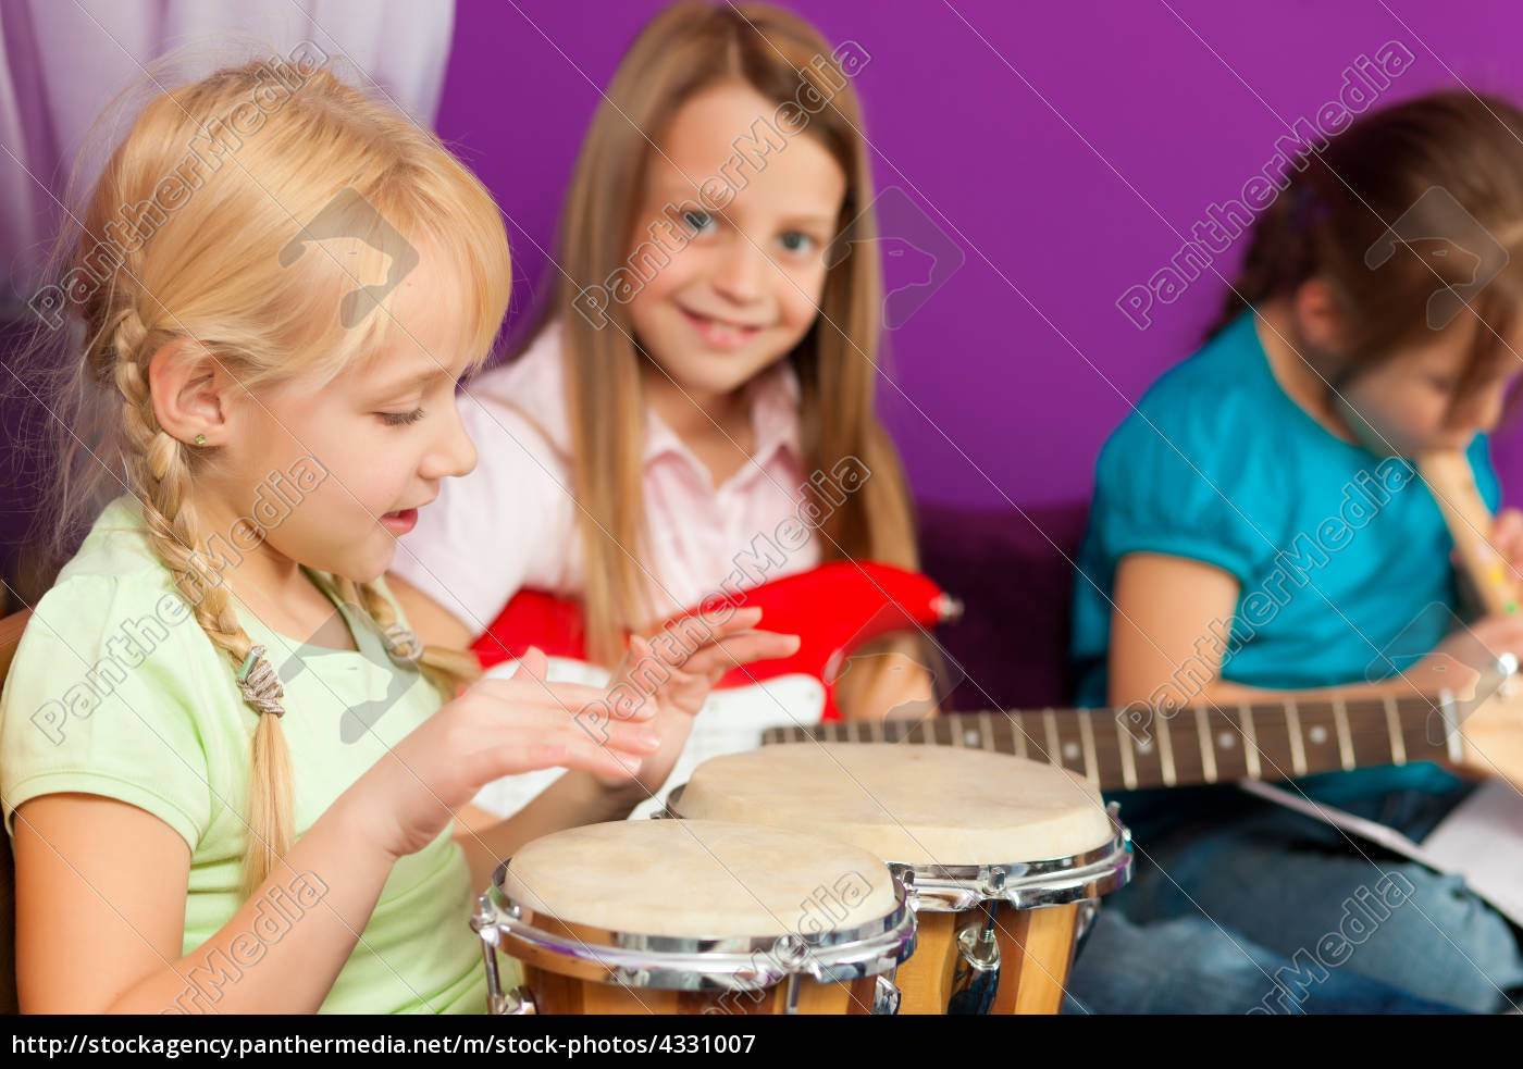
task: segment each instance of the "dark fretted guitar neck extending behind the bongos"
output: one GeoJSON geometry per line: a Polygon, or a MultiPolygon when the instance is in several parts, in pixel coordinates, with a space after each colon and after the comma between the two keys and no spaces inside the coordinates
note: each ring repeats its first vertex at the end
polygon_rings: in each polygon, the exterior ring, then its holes
{"type": "Polygon", "coordinates": [[[1444,693],[1403,697],[1194,705],[1171,716],[1122,710],[950,713],[926,720],[850,720],[771,728],[783,742],[961,746],[1049,761],[1101,790],[1287,780],[1381,764],[1458,761],[1459,711],[1444,693]]]}

